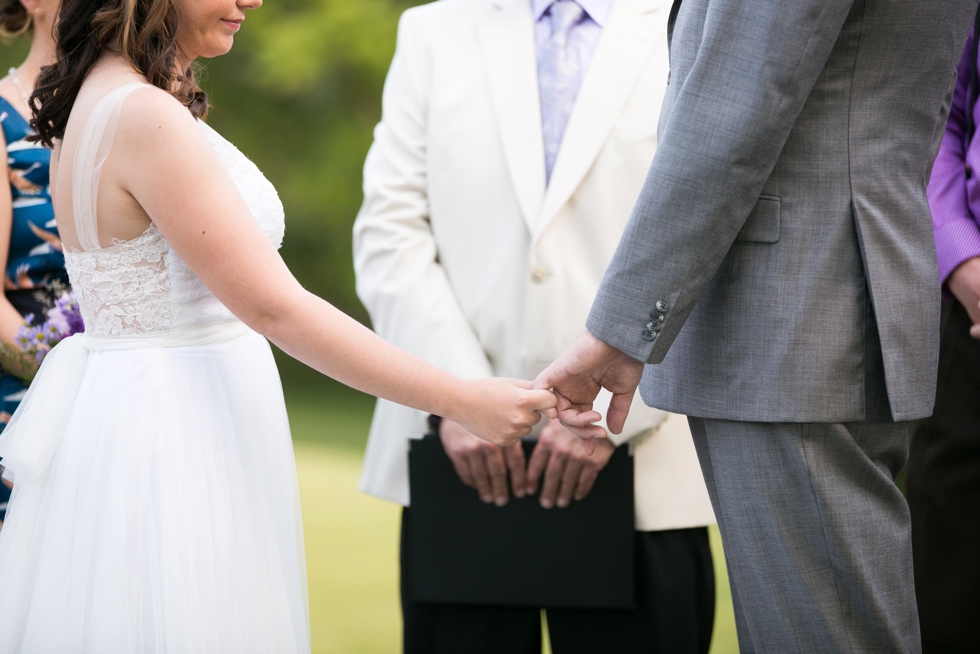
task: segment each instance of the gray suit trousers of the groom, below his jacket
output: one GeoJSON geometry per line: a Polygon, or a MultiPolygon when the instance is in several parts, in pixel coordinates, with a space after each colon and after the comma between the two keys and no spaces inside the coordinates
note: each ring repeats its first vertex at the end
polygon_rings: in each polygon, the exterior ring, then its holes
{"type": "Polygon", "coordinates": [[[742,654],[921,652],[908,423],[690,424],[742,654]]]}

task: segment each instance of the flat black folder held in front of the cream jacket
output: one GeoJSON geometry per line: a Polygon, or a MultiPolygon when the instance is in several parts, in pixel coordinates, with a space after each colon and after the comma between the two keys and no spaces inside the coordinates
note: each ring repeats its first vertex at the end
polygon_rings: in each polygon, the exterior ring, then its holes
{"type": "MultiPolygon", "coordinates": [[[[530,456],[535,442],[525,441],[530,456]]],[[[564,509],[538,496],[487,505],[438,437],[411,441],[409,586],[416,602],[632,609],[633,459],[620,447],[564,509]]]]}

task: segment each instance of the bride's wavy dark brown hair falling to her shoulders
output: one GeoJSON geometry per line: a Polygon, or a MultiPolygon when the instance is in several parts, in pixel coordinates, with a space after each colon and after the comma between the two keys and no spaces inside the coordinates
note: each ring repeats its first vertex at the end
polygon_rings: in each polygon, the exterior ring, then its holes
{"type": "Polygon", "coordinates": [[[37,140],[50,148],[64,138],[82,82],[110,52],[204,118],[208,96],[177,56],[179,21],[176,0],[62,0],[54,30],[58,59],[41,69],[30,101],[37,140]]]}

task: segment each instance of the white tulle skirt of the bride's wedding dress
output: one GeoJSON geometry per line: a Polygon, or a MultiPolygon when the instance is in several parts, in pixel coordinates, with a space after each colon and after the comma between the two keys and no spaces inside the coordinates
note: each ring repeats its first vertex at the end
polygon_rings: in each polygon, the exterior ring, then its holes
{"type": "Polygon", "coordinates": [[[11,464],[0,652],[309,652],[296,469],[265,339],[92,351],[72,399],[51,407],[70,417],[46,469],[21,482],[11,464]]]}

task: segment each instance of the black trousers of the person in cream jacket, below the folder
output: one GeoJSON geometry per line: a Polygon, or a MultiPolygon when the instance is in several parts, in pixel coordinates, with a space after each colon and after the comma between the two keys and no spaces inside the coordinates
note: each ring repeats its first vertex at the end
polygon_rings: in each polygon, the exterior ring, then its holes
{"type": "MultiPolygon", "coordinates": [[[[413,602],[410,529],[406,509],[401,538],[405,654],[541,653],[538,609],[413,602]]],[[[707,653],[715,614],[707,528],[636,532],[635,569],[633,611],[547,610],[554,654],[707,653]]]]}

